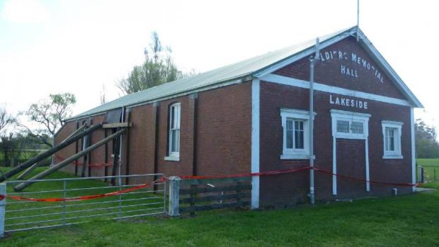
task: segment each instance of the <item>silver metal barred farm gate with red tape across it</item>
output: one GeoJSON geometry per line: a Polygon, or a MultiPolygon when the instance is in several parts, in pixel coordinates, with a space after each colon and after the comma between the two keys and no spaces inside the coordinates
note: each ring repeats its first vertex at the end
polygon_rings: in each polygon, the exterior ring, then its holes
{"type": "Polygon", "coordinates": [[[4,232],[164,214],[164,177],[144,174],[29,180],[35,184],[25,192],[12,189],[23,181],[7,181],[4,232]],[[114,185],[110,184],[112,178],[114,185]]]}

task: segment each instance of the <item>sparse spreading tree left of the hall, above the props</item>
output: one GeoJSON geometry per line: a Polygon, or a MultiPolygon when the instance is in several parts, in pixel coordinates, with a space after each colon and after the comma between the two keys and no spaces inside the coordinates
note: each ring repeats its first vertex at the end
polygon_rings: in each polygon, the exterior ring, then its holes
{"type": "Polygon", "coordinates": [[[50,140],[64,121],[72,116],[71,107],[75,103],[74,94],[50,94],[48,98],[32,104],[25,113],[35,127],[29,127],[23,122],[19,122],[18,126],[30,137],[33,137],[37,143],[52,147],[50,140]]]}

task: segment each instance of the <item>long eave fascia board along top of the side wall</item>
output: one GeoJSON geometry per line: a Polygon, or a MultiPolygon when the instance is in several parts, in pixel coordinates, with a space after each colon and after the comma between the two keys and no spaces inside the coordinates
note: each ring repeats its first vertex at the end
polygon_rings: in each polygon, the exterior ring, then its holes
{"type": "Polygon", "coordinates": [[[213,85],[204,86],[204,87],[198,87],[198,88],[195,88],[195,89],[192,89],[192,90],[186,90],[184,92],[174,93],[174,94],[171,94],[171,95],[166,95],[166,96],[158,97],[158,98],[151,99],[151,100],[146,100],[146,101],[142,101],[142,102],[138,102],[138,103],[133,103],[133,104],[125,105],[125,106],[119,106],[119,107],[115,107],[115,108],[108,109],[108,110],[105,110],[105,111],[89,114],[89,115],[74,117],[74,118],[66,120],[66,122],[70,122],[70,121],[74,121],[74,120],[78,120],[78,119],[84,119],[84,118],[93,117],[93,116],[103,115],[103,114],[105,114],[108,111],[111,111],[113,109],[117,109],[117,108],[120,108],[120,107],[133,108],[133,107],[136,107],[136,106],[147,105],[147,104],[151,104],[151,103],[158,102],[158,101],[178,98],[178,97],[186,96],[186,95],[189,95],[189,94],[192,94],[192,93],[196,93],[196,92],[207,91],[207,90],[211,90],[211,89],[215,89],[215,88],[219,88],[219,87],[223,87],[223,86],[228,86],[228,85],[233,85],[233,84],[239,84],[239,83],[243,83],[243,82],[247,82],[247,81],[252,81],[252,77],[244,76],[244,77],[240,77],[239,79],[235,79],[235,80],[231,80],[231,81],[227,81],[227,82],[216,83],[216,84],[213,84],[213,85]]]}

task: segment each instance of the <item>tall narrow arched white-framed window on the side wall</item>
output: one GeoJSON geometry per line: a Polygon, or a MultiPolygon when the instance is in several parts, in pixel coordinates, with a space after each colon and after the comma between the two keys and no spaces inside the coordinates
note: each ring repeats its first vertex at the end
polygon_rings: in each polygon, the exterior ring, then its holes
{"type": "Polygon", "coordinates": [[[180,155],[180,103],[174,103],[169,107],[168,126],[168,157],[165,160],[178,161],[180,155]]]}

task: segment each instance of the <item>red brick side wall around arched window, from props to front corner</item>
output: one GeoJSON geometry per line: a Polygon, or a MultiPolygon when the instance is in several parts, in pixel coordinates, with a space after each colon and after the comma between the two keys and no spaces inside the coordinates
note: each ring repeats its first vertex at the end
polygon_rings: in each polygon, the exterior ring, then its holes
{"type": "MultiPolygon", "coordinates": [[[[251,83],[221,87],[197,95],[196,173],[233,174],[250,171],[251,83]],[[233,110],[231,110],[233,109],[233,110]]],[[[155,113],[153,104],[132,108],[130,174],[154,172],[155,113]]],[[[194,103],[191,96],[159,102],[158,171],[171,175],[193,172],[194,103]],[[181,103],[180,160],[165,161],[169,106],[181,103]]]]}

